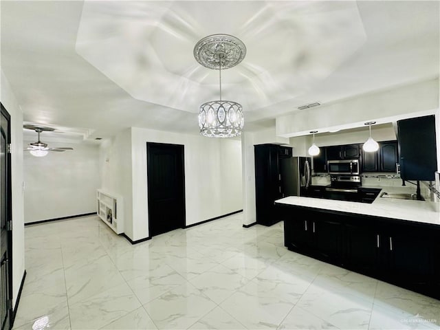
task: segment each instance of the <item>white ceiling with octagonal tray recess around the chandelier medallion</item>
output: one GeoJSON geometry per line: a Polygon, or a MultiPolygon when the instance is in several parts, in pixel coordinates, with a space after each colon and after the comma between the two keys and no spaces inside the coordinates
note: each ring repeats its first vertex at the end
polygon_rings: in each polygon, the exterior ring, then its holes
{"type": "Polygon", "coordinates": [[[197,134],[199,104],[219,98],[219,72],[192,53],[210,34],[247,47],[222,71],[222,96],[243,104],[250,131],[303,104],[439,76],[439,1],[0,5],[1,69],[25,122],[85,140],[130,126],[197,134]]]}

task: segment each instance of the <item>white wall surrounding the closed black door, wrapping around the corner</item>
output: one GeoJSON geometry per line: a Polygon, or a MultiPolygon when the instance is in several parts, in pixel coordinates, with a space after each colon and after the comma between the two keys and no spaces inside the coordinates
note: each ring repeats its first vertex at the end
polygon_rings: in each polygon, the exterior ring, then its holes
{"type": "Polygon", "coordinates": [[[124,197],[124,231],[133,241],[149,235],[146,142],[184,145],[186,225],[243,209],[239,140],[133,127],[101,148],[115,162],[102,164],[102,187],[124,197]]]}

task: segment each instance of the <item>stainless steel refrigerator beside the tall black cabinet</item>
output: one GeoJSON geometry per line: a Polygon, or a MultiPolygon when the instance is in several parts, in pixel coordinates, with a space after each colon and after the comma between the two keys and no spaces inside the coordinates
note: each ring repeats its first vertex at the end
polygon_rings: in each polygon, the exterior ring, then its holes
{"type": "Polygon", "coordinates": [[[311,185],[311,157],[280,159],[283,197],[301,196],[311,185]]]}

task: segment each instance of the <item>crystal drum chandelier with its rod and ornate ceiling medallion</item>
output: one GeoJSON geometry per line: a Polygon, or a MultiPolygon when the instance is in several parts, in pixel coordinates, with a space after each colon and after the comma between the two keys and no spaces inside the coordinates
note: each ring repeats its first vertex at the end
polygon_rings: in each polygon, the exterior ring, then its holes
{"type": "Polygon", "coordinates": [[[234,137],[243,129],[241,104],[221,100],[221,69],[239,64],[246,54],[244,43],[228,34],[212,34],[194,47],[194,57],[203,67],[219,70],[220,99],[201,104],[199,108],[200,134],[207,137],[234,137]]]}

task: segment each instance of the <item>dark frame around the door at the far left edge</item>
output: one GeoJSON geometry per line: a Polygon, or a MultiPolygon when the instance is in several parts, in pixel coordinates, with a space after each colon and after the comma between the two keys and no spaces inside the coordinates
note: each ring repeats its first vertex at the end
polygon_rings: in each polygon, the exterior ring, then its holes
{"type": "MultiPolygon", "coordinates": [[[[3,103],[0,102],[0,111],[1,114],[4,115],[6,118],[8,124],[8,133],[6,135],[6,144],[11,143],[11,116],[8,113],[8,111],[3,106],[3,103]]],[[[7,147],[8,148],[8,147],[7,147]]],[[[9,314],[9,328],[8,325],[5,325],[5,329],[12,329],[12,324],[14,322],[14,314],[12,309],[12,167],[11,167],[11,153],[10,151],[7,151],[5,154],[5,162],[6,162],[6,168],[5,168],[5,177],[6,177],[6,210],[5,210],[5,221],[10,221],[10,228],[7,229],[7,237],[8,237],[8,297],[7,300],[7,306],[8,306],[8,314],[9,314]]],[[[0,320],[1,322],[1,320],[0,320]]],[[[0,324],[1,325],[1,324],[0,324]]]]}

